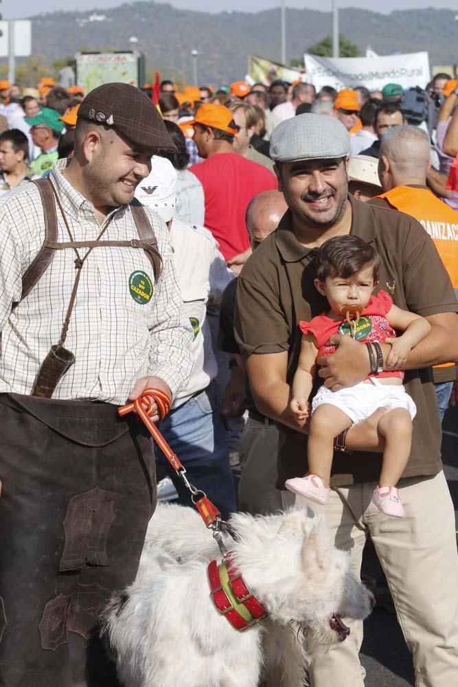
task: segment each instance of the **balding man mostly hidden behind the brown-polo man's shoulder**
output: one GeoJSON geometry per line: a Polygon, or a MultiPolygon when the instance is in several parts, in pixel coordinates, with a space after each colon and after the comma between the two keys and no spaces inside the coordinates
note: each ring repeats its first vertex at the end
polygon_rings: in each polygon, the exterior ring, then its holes
{"type": "MultiPolygon", "coordinates": [[[[284,196],[279,191],[264,191],[253,198],[246,213],[253,251],[277,229],[287,209],[284,196]]],[[[253,515],[275,513],[282,508],[282,498],[275,487],[278,430],[273,420],[266,418],[255,407],[244,370],[236,363],[236,358],[241,362],[233,335],[236,288],[237,280],[234,279],[222,295],[218,346],[231,355],[231,378],[226,388],[225,413],[242,414],[245,407],[248,409],[248,420],[240,440],[242,474],[238,486],[239,508],[253,515]]]]}

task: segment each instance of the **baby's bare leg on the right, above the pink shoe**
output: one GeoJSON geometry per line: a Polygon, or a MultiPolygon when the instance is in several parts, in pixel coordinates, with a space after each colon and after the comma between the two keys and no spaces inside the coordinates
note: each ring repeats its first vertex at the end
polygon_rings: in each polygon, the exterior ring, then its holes
{"type": "Polygon", "coordinates": [[[404,408],[395,408],[382,416],[378,431],[385,437],[380,486],[396,486],[411,452],[412,420],[404,408]]]}

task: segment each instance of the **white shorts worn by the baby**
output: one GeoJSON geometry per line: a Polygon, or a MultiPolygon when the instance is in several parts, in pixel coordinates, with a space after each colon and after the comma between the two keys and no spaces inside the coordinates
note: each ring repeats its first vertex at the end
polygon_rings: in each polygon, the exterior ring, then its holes
{"type": "Polygon", "coordinates": [[[405,408],[411,414],[412,420],[417,414],[415,403],[402,385],[384,385],[380,384],[378,379],[374,380],[374,383],[361,382],[339,391],[331,391],[323,384],[312,400],[312,414],[323,403],[340,408],[353,424],[365,420],[382,406],[390,410],[405,408]]]}

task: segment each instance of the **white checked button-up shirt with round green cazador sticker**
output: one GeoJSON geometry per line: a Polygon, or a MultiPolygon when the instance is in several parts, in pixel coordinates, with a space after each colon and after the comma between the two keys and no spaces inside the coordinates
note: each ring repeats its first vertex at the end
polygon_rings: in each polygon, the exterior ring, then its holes
{"type": "MultiPolygon", "coordinates": [[[[182,312],[167,227],[146,208],[163,259],[161,277],[154,284],[143,250],[103,247],[104,240],[138,238],[130,207],[115,208],[100,225],[93,205],[62,176],[66,164],[58,161],[50,179],[73,240],[95,240],[113,218],[101,246],[84,262],[65,341],[76,362],[53,398],[121,405],[137,379],[146,375],[159,376],[175,394],[192,370],[192,330],[182,312]]],[[[58,208],[56,212],[58,241],[67,242],[62,214],[58,208]]],[[[38,368],[60,337],[76,276],[73,249],[56,251],[38,284],[11,311],[12,302],[21,297],[22,275],[44,237],[43,207],[34,184],[0,200],[0,392],[30,394],[38,368]]],[[[79,252],[83,257],[87,249],[79,252]]]]}

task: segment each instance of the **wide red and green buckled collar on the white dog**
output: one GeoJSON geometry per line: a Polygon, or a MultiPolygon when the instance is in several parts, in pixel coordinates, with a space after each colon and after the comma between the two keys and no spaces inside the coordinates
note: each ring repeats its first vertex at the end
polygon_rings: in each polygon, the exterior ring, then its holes
{"type": "MultiPolygon", "coordinates": [[[[233,587],[231,587],[226,563],[223,562],[218,566],[216,561],[211,561],[208,565],[208,578],[211,598],[213,599],[216,609],[227,618],[232,627],[236,630],[245,630],[266,615],[260,603],[248,591],[247,586],[240,576],[238,579],[242,581],[242,585],[247,594],[242,596],[242,598],[244,598],[243,601],[238,599],[233,587]],[[251,607],[253,607],[253,611],[255,611],[256,615],[254,615],[249,608],[249,601],[251,601],[251,599],[255,601],[255,605],[251,605],[251,607]],[[260,612],[262,613],[261,615],[260,612]]],[[[241,591],[240,586],[238,586],[238,588],[241,591]]]]}

